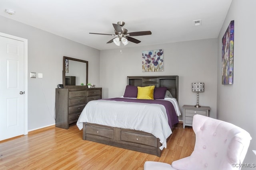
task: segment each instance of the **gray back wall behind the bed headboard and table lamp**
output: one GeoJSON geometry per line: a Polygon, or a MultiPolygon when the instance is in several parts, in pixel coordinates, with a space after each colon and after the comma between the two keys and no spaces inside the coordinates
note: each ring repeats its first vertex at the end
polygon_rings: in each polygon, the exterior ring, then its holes
{"type": "MultiPolygon", "coordinates": [[[[204,82],[205,91],[199,94],[199,104],[210,106],[210,117],[216,118],[217,98],[217,39],[203,39],[100,51],[100,84],[103,98],[123,96],[127,76],[179,76],[179,106],[195,105],[196,93],[192,82],[204,82]],[[163,49],[164,71],[142,72],[142,51],[163,49]]],[[[183,120],[182,117],[179,117],[183,120]]]]}

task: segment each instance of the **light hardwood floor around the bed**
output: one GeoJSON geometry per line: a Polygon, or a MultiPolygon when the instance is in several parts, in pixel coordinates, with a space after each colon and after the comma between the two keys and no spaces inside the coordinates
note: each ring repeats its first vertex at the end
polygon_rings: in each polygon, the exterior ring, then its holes
{"type": "Polygon", "coordinates": [[[166,162],[189,156],[195,144],[192,127],[179,123],[161,157],[82,140],[82,130],[48,127],[0,142],[0,170],[85,169],[143,170],[147,160],[166,162]]]}

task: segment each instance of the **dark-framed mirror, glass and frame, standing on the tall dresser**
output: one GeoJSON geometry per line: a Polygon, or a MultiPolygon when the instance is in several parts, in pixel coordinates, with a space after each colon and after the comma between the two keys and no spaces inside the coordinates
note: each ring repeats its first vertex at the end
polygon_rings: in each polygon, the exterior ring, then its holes
{"type": "Polygon", "coordinates": [[[63,56],[63,86],[66,88],[87,87],[88,61],[63,56]],[[84,86],[81,85],[84,84],[84,86]]]}

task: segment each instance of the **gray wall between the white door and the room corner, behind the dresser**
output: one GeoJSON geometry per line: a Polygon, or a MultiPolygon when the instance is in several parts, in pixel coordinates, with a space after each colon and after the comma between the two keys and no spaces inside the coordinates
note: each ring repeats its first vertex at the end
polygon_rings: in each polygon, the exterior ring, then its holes
{"type": "Polygon", "coordinates": [[[88,61],[88,81],[100,84],[99,50],[2,16],[0,23],[0,32],[28,39],[28,73],[43,73],[43,78],[28,78],[28,130],[55,124],[55,88],[62,84],[63,56],[88,61]]]}

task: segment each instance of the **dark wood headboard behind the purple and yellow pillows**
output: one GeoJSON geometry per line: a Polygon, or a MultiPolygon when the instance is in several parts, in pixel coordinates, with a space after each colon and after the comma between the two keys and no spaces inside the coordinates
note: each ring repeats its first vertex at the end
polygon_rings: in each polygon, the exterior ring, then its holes
{"type": "Polygon", "coordinates": [[[179,101],[179,76],[127,76],[127,84],[132,86],[167,87],[179,101]]]}

